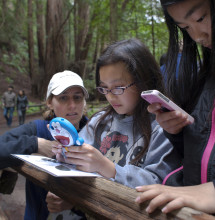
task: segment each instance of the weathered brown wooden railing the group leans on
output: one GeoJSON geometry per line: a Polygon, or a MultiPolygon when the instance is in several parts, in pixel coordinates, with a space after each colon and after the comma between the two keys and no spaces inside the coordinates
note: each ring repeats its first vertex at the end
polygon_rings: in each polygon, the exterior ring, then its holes
{"type": "Polygon", "coordinates": [[[182,208],[167,215],[157,210],[148,215],[145,212],[147,203],[138,205],[134,202],[138,195],[136,190],[104,178],[53,177],[26,163],[14,169],[95,219],[215,220],[212,215],[190,208],[182,208]]]}

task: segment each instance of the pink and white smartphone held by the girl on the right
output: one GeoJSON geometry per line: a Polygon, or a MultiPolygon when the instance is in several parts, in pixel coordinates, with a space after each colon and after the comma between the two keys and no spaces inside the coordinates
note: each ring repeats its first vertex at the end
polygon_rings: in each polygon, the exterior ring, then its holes
{"type": "Polygon", "coordinates": [[[180,108],[178,105],[176,105],[173,101],[171,101],[169,98],[167,98],[165,95],[163,95],[161,92],[157,90],[147,90],[143,91],[141,93],[141,97],[145,99],[150,104],[152,103],[159,103],[161,104],[161,111],[174,111],[178,110],[182,112],[183,114],[188,115],[188,120],[193,123],[194,118],[189,115],[187,112],[185,112],[182,108],[180,108]]]}

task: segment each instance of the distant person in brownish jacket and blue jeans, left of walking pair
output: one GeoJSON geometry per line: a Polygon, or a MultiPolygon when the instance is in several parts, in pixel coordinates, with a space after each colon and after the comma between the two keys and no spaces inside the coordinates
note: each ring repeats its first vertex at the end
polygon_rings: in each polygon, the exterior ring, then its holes
{"type": "Polygon", "coordinates": [[[4,108],[4,117],[8,127],[12,124],[13,112],[16,104],[16,94],[13,91],[13,86],[8,86],[6,92],[2,96],[2,105],[4,108]]]}

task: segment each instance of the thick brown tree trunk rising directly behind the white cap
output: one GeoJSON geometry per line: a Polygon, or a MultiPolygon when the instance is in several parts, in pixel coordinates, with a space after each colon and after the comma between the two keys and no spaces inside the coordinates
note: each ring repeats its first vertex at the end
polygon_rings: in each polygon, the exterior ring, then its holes
{"type": "Polygon", "coordinates": [[[67,68],[64,24],[64,0],[47,0],[45,72],[41,94],[45,93],[52,75],[67,68]]]}

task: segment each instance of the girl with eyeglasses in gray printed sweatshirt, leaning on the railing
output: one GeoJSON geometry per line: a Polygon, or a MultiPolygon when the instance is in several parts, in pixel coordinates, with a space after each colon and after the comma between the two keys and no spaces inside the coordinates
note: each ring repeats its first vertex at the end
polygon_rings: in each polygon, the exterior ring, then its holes
{"type": "Polygon", "coordinates": [[[83,128],[85,143],[69,147],[66,159],[53,148],[57,159],[129,187],[161,183],[179,161],[140,96],[143,90],[163,91],[154,57],[138,39],[113,43],[97,61],[96,85],[109,105],[83,128]]]}

